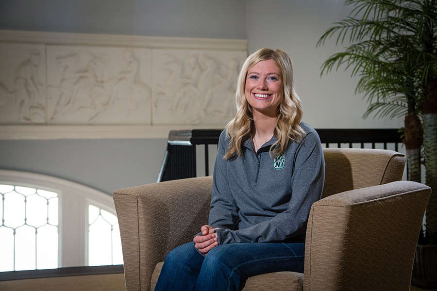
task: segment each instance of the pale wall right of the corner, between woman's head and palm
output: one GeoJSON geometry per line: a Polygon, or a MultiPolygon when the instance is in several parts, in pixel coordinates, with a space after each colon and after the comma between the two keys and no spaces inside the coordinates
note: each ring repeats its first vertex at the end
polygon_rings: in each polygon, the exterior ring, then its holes
{"type": "Polygon", "coordinates": [[[362,119],[366,100],[355,96],[351,71],[320,78],[320,66],[333,53],[335,39],[316,48],[331,23],[348,16],[343,0],[250,0],[246,7],[249,52],[284,49],[293,61],[295,85],[303,101],[303,120],[314,128],[399,128],[403,120],[362,119]]]}

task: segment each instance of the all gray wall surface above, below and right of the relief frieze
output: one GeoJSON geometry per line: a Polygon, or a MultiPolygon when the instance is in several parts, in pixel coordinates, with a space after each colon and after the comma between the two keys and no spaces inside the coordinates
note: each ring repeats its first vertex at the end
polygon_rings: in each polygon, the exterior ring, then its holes
{"type": "MultiPolygon", "coordinates": [[[[339,48],[316,43],[345,18],[343,0],[1,0],[0,29],[151,36],[246,38],[249,51],[282,48],[294,63],[304,121],[315,128],[399,128],[402,120],[361,118],[350,72],[320,78],[339,48]]],[[[0,141],[0,168],[48,174],[106,193],[156,181],[166,141],[0,141]]]]}

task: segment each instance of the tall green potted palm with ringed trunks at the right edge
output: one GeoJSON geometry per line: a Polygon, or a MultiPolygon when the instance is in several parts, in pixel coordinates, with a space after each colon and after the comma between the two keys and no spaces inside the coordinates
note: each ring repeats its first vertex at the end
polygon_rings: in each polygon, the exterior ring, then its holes
{"type": "Polygon", "coordinates": [[[423,148],[426,209],[413,267],[413,284],[437,287],[437,0],[346,0],[354,8],[333,24],[318,46],[336,36],[348,47],[329,57],[321,74],[341,66],[358,76],[356,93],[367,97],[364,117],[404,117],[409,179],[421,181],[423,148]],[[423,143],[423,144],[422,144],[423,143]],[[434,257],[432,257],[434,256],[434,257]],[[430,263],[430,266],[421,265],[430,263]]]}

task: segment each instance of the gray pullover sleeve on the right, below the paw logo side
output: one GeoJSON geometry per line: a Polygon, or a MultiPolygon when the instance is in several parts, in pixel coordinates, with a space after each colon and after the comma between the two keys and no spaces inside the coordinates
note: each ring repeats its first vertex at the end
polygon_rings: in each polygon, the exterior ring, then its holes
{"type": "Polygon", "coordinates": [[[294,157],[290,181],[292,194],[287,210],[270,220],[245,229],[236,230],[217,225],[215,227],[220,227],[216,230],[218,243],[281,242],[303,235],[311,205],[321,197],[324,170],[319,136],[311,132],[304,137],[294,157]]]}

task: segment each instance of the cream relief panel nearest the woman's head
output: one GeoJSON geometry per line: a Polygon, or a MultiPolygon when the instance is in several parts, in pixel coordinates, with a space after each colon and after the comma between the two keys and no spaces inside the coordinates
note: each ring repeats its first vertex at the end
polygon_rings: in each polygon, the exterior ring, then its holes
{"type": "Polygon", "coordinates": [[[153,50],[153,124],[226,124],[245,58],[240,51],[153,50]]]}

